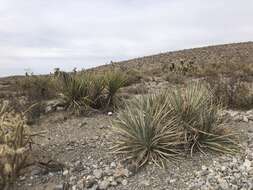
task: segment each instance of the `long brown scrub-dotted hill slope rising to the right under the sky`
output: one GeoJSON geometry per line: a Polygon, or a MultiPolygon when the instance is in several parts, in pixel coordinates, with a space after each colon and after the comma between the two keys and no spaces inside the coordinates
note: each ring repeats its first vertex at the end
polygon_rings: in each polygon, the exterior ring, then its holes
{"type": "Polygon", "coordinates": [[[253,42],[233,43],[185,49],[167,53],[160,53],[131,60],[115,62],[96,68],[106,69],[112,65],[116,67],[135,68],[141,71],[161,68],[165,64],[193,61],[196,64],[223,63],[253,63],[253,42]]]}

